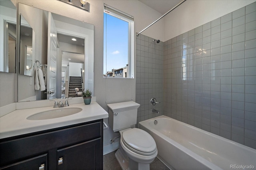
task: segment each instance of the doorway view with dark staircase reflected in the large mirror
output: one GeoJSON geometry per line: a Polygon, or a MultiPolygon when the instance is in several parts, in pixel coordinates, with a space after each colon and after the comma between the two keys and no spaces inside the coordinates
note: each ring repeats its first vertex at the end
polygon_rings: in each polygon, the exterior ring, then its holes
{"type": "MultiPolygon", "coordinates": [[[[61,98],[82,96],[84,90],[84,39],[57,34],[62,51],[61,98]],[[73,52],[71,52],[73,51],[73,52]]],[[[59,98],[59,96],[58,96],[59,98]]]]}

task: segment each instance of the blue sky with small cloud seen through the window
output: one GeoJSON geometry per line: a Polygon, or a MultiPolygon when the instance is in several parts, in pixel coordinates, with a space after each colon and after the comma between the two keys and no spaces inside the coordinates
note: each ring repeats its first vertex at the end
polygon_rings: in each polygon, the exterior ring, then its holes
{"type": "Polygon", "coordinates": [[[128,26],[128,22],[104,13],[103,74],[128,64],[128,26]]]}

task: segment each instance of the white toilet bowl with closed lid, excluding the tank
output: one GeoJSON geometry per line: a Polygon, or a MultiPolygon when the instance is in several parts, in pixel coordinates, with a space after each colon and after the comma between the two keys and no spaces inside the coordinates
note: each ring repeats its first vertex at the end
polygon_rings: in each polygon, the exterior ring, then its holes
{"type": "Polygon", "coordinates": [[[149,170],[149,164],[157,156],[153,137],[138,128],[120,132],[120,145],[115,156],[123,170],[149,170]],[[121,153],[120,153],[121,152],[121,153]]]}

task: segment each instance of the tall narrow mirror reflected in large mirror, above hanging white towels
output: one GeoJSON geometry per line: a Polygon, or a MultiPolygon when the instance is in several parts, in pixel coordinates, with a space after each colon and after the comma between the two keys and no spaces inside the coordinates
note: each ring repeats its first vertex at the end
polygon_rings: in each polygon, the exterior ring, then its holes
{"type": "Polygon", "coordinates": [[[33,29],[20,15],[20,74],[34,76],[33,29]]]}

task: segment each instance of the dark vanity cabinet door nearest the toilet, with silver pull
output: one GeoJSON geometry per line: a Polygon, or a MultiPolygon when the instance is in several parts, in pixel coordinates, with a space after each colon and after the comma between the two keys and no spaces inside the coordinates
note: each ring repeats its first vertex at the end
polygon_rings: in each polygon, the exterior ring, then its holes
{"type": "Polygon", "coordinates": [[[102,170],[101,138],[57,150],[57,170],[102,170]]]}

